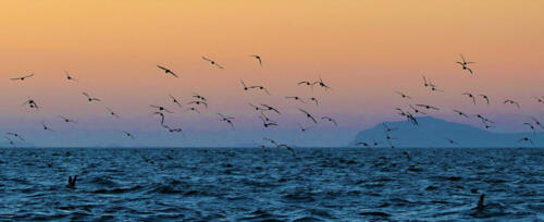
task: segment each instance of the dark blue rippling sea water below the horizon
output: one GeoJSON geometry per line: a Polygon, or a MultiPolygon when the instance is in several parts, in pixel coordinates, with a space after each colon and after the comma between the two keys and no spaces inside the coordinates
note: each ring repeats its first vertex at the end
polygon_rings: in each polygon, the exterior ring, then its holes
{"type": "Polygon", "coordinates": [[[295,151],[0,149],[0,219],[544,220],[544,149],[295,151]]]}

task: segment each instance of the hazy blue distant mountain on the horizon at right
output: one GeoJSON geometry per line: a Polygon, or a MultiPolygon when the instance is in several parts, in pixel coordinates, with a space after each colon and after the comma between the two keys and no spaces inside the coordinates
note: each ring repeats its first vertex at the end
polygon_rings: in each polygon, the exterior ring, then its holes
{"type": "MultiPolygon", "coordinates": [[[[386,122],[391,128],[390,141],[395,147],[532,147],[530,143],[519,141],[530,137],[534,147],[544,147],[544,133],[493,133],[474,126],[447,122],[431,116],[418,118],[419,125],[407,121],[386,122]],[[456,144],[450,144],[447,139],[456,144]]],[[[385,138],[385,126],[378,124],[372,128],[359,132],[350,146],[358,141],[370,143],[376,139],[379,147],[390,147],[385,138]]]]}

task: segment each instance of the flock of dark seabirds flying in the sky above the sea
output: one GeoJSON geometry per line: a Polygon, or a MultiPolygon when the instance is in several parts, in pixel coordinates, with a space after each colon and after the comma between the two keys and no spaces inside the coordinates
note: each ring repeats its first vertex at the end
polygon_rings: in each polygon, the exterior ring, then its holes
{"type": "MultiPolygon", "coordinates": [[[[258,61],[258,64],[262,67],[262,59],[261,59],[260,55],[258,55],[258,54],[250,54],[249,57],[256,59],[258,61]]],[[[210,58],[201,57],[201,59],[203,61],[206,61],[206,62],[209,62],[213,67],[221,69],[221,70],[225,69],[223,65],[221,65],[220,63],[218,63],[217,61],[214,61],[214,60],[212,60],[210,58]]],[[[474,72],[473,72],[472,67],[470,66],[474,62],[472,62],[472,61],[467,61],[466,58],[465,58],[465,55],[462,55],[462,54],[461,54],[461,61],[457,62],[457,64],[459,64],[460,67],[463,71],[469,72],[470,75],[474,75],[474,72]]],[[[172,71],[172,70],[170,70],[170,69],[168,69],[168,67],[165,67],[163,65],[157,65],[157,67],[161,72],[163,72],[165,75],[168,75],[168,76],[172,76],[172,77],[175,77],[175,78],[180,77],[174,71],[172,71]]],[[[64,71],[64,74],[65,74],[65,79],[66,81],[78,82],[69,72],[64,71]]],[[[35,74],[28,74],[28,75],[25,75],[25,76],[11,78],[11,81],[14,81],[14,82],[25,82],[25,81],[27,81],[27,79],[29,79],[29,78],[32,78],[34,76],[35,76],[35,74]]],[[[424,75],[422,76],[422,81],[423,81],[423,87],[424,88],[429,88],[430,91],[432,91],[432,92],[444,92],[444,90],[440,89],[436,84],[434,84],[433,82],[431,82],[424,75]]],[[[244,91],[258,90],[258,91],[262,91],[262,92],[264,92],[267,95],[271,95],[270,91],[264,86],[262,86],[262,85],[248,85],[244,81],[239,81],[239,83],[240,83],[242,89],[244,91]]],[[[324,89],[325,91],[327,91],[327,90],[331,89],[331,87],[327,84],[325,84],[325,82],[321,78],[321,76],[317,81],[301,81],[301,82],[298,82],[297,85],[301,86],[301,87],[311,87],[312,89],[313,89],[313,87],[320,87],[320,88],[324,89]]],[[[395,91],[395,94],[397,94],[398,96],[400,96],[400,98],[406,99],[407,101],[412,101],[413,100],[413,98],[411,96],[409,96],[408,94],[405,94],[405,92],[401,92],[401,91],[395,91]]],[[[101,102],[100,98],[94,97],[94,96],[91,96],[88,92],[84,91],[84,92],[82,92],[82,96],[88,102],[91,102],[91,103],[101,102]]],[[[183,109],[184,111],[190,111],[190,112],[195,112],[195,113],[199,114],[199,113],[201,113],[202,109],[208,109],[208,106],[209,106],[208,99],[206,97],[199,95],[199,94],[196,94],[196,92],[194,92],[194,95],[191,95],[190,100],[188,102],[186,102],[186,103],[182,103],[180,99],[177,99],[176,97],[174,97],[171,94],[169,94],[168,96],[170,97],[171,102],[172,102],[173,106],[176,106],[180,109],[182,109],[184,107],[187,107],[187,108],[183,109]]],[[[491,102],[490,97],[487,97],[486,95],[483,95],[483,94],[475,95],[475,94],[471,94],[471,92],[463,92],[460,96],[467,97],[474,104],[477,104],[477,98],[483,99],[487,106],[491,102]]],[[[316,97],[302,98],[302,97],[299,97],[299,96],[285,96],[284,98],[286,100],[293,100],[295,102],[300,102],[301,104],[302,103],[312,103],[316,107],[320,106],[320,102],[318,101],[318,98],[316,98],[316,97]]],[[[537,102],[544,103],[544,97],[534,97],[534,98],[536,99],[537,102]]],[[[517,109],[521,109],[519,102],[514,101],[511,99],[506,99],[506,100],[503,101],[503,103],[504,104],[508,104],[508,106],[515,106],[517,109]]],[[[27,106],[29,109],[35,109],[35,110],[41,109],[41,107],[38,104],[38,102],[35,101],[32,98],[28,98],[26,101],[24,101],[23,106],[27,106]]],[[[277,110],[273,106],[265,104],[265,103],[254,104],[251,102],[248,102],[248,106],[249,106],[248,109],[251,109],[256,113],[258,113],[258,119],[262,123],[262,126],[264,128],[279,126],[279,122],[274,121],[271,116],[272,115],[281,115],[282,113],[280,112],[280,110],[277,110]]],[[[166,124],[165,120],[166,120],[166,118],[168,118],[169,114],[174,113],[173,110],[166,108],[163,104],[149,104],[149,108],[152,109],[151,113],[153,115],[160,118],[159,125],[162,128],[164,128],[169,133],[181,133],[182,135],[184,135],[184,131],[183,131],[182,127],[180,127],[180,126],[173,127],[173,126],[166,124]]],[[[116,119],[121,118],[116,112],[114,112],[112,109],[110,109],[108,107],[104,107],[104,110],[107,111],[107,113],[109,115],[111,115],[113,118],[116,118],[116,119]]],[[[309,112],[308,110],[301,109],[301,108],[298,108],[297,110],[298,110],[298,112],[300,112],[301,116],[305,118],[305,119],[307,119],[308,122],[310,123],[310,124],[302,124],[301,122],[298,122],[298,126],[299,126],[299,128],[300,128],[301,132],[307,132],[307,131],[313,128],[321,121],[330,122],[334,126],[338,125],[338,123],[333,118],[331,118],[331,116],[316,116],[311,112],[309,112]]],[[[433,112],[436,112],[436,111],[441,111],[441,110],[442,109],[438,108],[438,107],[436,107],[436,106],[430,106],[430,104],[423,104],[423,103],[411,103],[411,102],[409,102],[408,108],[405,108],[405,109],[396,108],[396,112],[399,115],[406,118],[407,121],[409,121],[411,124],[413,124],[416,126],[419,124],[418,123],[418,119],[417,119],[418,116],[420,116],[420,115],[426,115],[426,114],[430,114],[430,113],[433,113],[433,112]]],[[[454,112],[456,115],[459,115],[459,116],[462,116],[462,118],[466,118],[466,119],[478,118],[481,121],[481,123],[483,124],[483,127],[485,127],[485,128],[492,128],[492,127],[494,127],[493,124],[495,124],[494,121],[492,121],[492,120],[483,116],[482,114],[473,114],[473,115],[471,115],[471,114],[468,114],[468,113],[466,113],[463,111],[460,111],[460,110],[457,110],[457,109],[453,109],[452,112],[454,112]]],[[[228,116],[228,115],[225,115],[223,113],[217,113],[217,115],[218,115],[218,120],[220,122],[224,122],[233,131],[235,130],[235,124],[234,124],[235,118],[234,116],[228,116]]],[[[65,122],[67,124],[76,124],[77,123],[77,121],[72,120],[70,118],[66,118],[64,115],[58,115],[58,118],[61,119],[63,122],[65,122]]],[[[536,118],[530,116],[530,120],[531,120],[530,122],[524,122],[523,125],[526,125],[527,127],[529,127],[533,132],[536,131],[536,127],[540,127],[540,128],[544,130],[544,125],[536,118]]],[[[41,126],[42,126],[42,128],[45,131],[55,132],[54,130],[52,130],[51,127],[49,127],[45,122],[41,122],[41,126]]],[[[390,127],[385,123],[383,123],[383,127],[384,127],[384,139],[385,139],[385,141],[391,147],[395,147],[393,145],[393,141],[395,139],[398,139],[398,138],[392,136],[392,134],[395,131],[397,131],[398,128],[390,127]]],[[[131,139],[135,139],[135,136],[132,133],[129,133],[128,131],[123,131],[121,133],[123,133],[126,137],[128,137],[131,139]]],[[[23,137],[23,135],[21,135],[18,133],[14,133],[14,132],[8,132],[8,133],[5,133],[5,138],[8,139],[8,141],[12,146],[14,146],[14,141],[13,141],[14,139],[25,140],[25,138],[23,137]]],[[[447,140],[449,144],[458,144],[457,141],[455,141],[452,138],[444,138],[444,139],[447,140]]],[[[269,143],[271,146],[275,146],[277,148],[285,147],[288,150],[293,151],[293,148],[289,147],[288,145],[280,144],[280,143],[277,143],[277,141],[275,141],[273,139],[270,139],[270,138],[263,138],[263,140],[267,141],[267,143],[269,143]]],[[[533,139],[530,138],[530,137],[520,138],[519,141],[520,143],[530,143],[530,144],[533,144],[533,139]]],[[[376,140],[376,139],[372,139],[372,141],[358,141],[358,143],[356,143],[356,145],[358,145],[358,146],[364,146],[364,147],[376,147],[380,144],[382,144],[382,141],[376,140]]],[[[267,146],[265,145],[261,145],[260,147],[267,147],[267,146]]],[[[294,151],[293,151],[293,155],[295,155],[294,151]]]]}

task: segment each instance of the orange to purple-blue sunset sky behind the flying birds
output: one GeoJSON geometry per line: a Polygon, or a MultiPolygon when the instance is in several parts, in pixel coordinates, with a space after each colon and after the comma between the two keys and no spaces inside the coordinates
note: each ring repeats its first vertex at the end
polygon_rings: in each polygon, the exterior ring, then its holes
{"type": "MultiPolygon", "coordinates": [[[[532,98],[544,96],[543,10],[542,1],[2,1],[0,131],[34,134],[28,137],[37,145],[85,146],[121,143],[106,134],[126,130],[147,136],[131,143],[153,146],[166,135],[149,104],[162,104],[176,109],[169,124],[189,134],[183,145],[248,144],[272,134],[332,146],[400,120],[394,108],[408,103],[484,113],[500,120],[495,131],[524,131],[527,116],[544,119],[544,104],[532,98]],[[455,63],[460,53],[477,62],[473,75],[455,63]],[[249,54],[260,54],[262,67],[249,54]],[[78,82],[67,82],[64,71],[78,82]],[[27,73],[36,76],[10,81],[27,73]],[[421,75],[445,92],[422,87],[421,75]],[[331,90],[297,86],[320,77],[331,90]],[[244,91],[239,81],[264,85],[272,96],[244,91]],[[102,101],[88,103],[83,91],[102,101]],[[471,104],[466,91],[487,95],[492,106],[471,104]],[[168,97],[188,102],[193,92],[210,101],[200,115],[168,97]],[[320,106],[285,96],[317,97],[320,106]],[[27,98],[42,109],[22,107],[27,98]],[[502,104],[505,99],[522,110],[502,104]],[[281,127],[263,130],[248,102],[277,107],[281,127]],[[108,116],[106,107],[122,119],[108,116]],[[310,123],[298,108],[335,118],[339,126],[320,123],[300,134],[297,122],[310,123]],[[217,112],[236,118],[235,133],[217,112]],[[79,123],[63,124],[59,114],[79,123]],[[38,132],[42,121],[60,135],[38,132]]],[[[478,125],[448,111],[433,115],[478,125]]]]}

